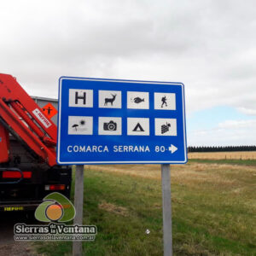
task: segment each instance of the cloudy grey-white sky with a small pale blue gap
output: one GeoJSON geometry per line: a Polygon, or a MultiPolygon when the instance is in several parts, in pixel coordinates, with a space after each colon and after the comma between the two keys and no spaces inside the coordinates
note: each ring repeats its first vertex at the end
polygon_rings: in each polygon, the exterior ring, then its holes
{"type": "Polygon", "coordinates": [[[0,0],[0,73],[185,84],[189,145],[256,144],[255,0],[0,0]]]}

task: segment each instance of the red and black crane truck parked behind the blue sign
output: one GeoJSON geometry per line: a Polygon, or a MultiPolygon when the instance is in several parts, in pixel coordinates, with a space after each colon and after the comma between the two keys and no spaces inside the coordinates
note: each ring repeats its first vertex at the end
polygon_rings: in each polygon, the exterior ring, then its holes
{"type": "Polygon", "coordinates": [[[51,192],[69,197],[72,171],[57,165],[56,141],[55,123],[0,73],[0,212],[34,210],[51,192]]]}

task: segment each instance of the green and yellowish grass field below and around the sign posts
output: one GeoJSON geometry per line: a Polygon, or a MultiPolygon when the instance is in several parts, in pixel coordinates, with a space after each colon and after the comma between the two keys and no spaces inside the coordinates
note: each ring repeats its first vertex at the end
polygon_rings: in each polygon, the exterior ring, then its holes
{"type": "MultiPolygon", "coordinates": [[[[174,255],[256,255],[255,183],[250,162],[172,166],[174,255]]],[[[86,255],[162,255],[160,166],[86,166],[84,224],[98,228],[86,255]]],[[[37,250],[70,255],[72,243],[37,250]]]]}

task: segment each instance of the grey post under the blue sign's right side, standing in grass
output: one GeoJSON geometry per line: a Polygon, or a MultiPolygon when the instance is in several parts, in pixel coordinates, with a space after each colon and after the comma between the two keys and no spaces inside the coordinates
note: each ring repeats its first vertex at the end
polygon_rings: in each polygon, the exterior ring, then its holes
{"type": "Polygon", "coordinates": [[[172,256],[172,198],[170,165],[161,165],[164,256],[172,256]]]}

